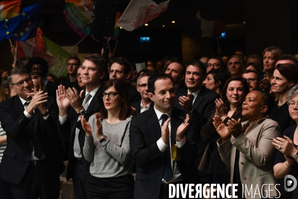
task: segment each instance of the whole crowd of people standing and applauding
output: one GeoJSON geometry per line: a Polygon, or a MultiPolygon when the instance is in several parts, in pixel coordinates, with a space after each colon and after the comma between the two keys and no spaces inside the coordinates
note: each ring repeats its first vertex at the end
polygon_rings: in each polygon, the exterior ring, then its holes
{"type": "Polygon", "coordinates": [[[283,178],[298,179],[298,60],[273,46],[263,60],[236,54],[137,71],[87,53],[65,79],[35,57],[4,72],[0,198],[58,199],[66,160],[77,199],[168,199],[169,184],[297,198],[283,178]]]}

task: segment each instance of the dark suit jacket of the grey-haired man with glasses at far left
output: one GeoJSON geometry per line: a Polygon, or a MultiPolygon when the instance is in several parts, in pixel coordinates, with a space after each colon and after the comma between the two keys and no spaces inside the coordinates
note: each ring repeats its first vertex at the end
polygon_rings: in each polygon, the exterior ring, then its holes
{"type": "MultiPolygon", "coordinates": [[[[34,110],[37,136],[44,151],[47,165],[52,175],[59,176],[64,172],[57,130],[58,106],[49,97],[44,103],[50,111],[49,118],[44,120],[40,110],[34,110]]],[[[18,96],[13,96],[0,103],[0,121],[6,131],[7,146],[0,164],[0,178],[10,183],[18,184],[29,165],[33,150],[30,119],[24,114],[24,106],[18,96]]]]}

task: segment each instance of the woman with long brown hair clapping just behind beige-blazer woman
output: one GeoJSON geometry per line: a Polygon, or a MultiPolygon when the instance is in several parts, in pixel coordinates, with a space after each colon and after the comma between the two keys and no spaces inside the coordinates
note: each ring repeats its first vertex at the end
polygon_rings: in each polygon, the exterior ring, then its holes
{"type": "MultiPolygon", "coordinates": [[[[242,118],[241,111],[242,102],[248,93],[247,81],[242,77],[234,76],[228,79],[224,85],[222,99],[215,101],[216,108],[213,110],[207,124],[201,129],[203,140],[210,140],[207,150],[210,151],[211,157],[206,159],[211,160],[211,162],[201,161],[199,169],[205,170],[205,172],[208,172],[208,169],[211,170],[213,172],[213,183],[215,184],[229,184],[230,175],[217,148],[216,142],[220,138],[220,135],[213,125],[213,117],[219,115],[224,123],[231,118],[236,120],[240,118],[242,121],[245,121],[246,119],[242,118]]],[[[205,154],[208,154],[208,151],[205,154]]]]}

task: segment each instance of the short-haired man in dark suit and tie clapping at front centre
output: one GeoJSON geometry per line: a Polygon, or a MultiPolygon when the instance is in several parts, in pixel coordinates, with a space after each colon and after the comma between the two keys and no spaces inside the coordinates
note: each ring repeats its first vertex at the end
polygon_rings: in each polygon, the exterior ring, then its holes
{"type": "Polygon", "coordinates": [[[134,198],[167,199],[170,183],[200,183],[194,164],[198,129],[192,113],[172,107],[175,87],[171,76],[156,73],[148,86],[154,107],[134,116],[130,126],[130,147],[138,167],[134,198]]]}

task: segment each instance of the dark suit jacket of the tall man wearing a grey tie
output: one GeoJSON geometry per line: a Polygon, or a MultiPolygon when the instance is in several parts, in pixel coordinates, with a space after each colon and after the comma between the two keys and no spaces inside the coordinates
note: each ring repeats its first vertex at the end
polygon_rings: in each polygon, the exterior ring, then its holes
{"type": "MultiPolygon", "coordinates": [[[[98,95],[99,95],[100,88],[96,92],[95,96],[92,98],[90,101],[88,108],[86,110],[86,114],[84,115],[85,119],[88,121],[89,117],[93,115],[95,112],[99,111],[99,103],[98,103],[98,95]]],[[[86,91],[83,93],[82,99],[85,98],[86,91]]],[[[79,142],[79,147],[81,150],[81,155],[83,159],[83,163],[86,169],[87,174],[89,175],[89,167],[90,167],[90,162],[85,160],[84,154],[83,154],[83,147],[85,143],[85,135],[86,132],[83,130],[81,122],[77,121],[78,115],[75,112],[74,108],[72,106],[69,107],[68,109],[68,118],[66,122],[62,125],[58,122],[58,128],[59,128],[59,135],[60,138],[63,141],[70,141],[70,155],[69,155],[69,163],[67,167],[67,174],[66,174],[66,179],[70,180],[73,178],[73,169],[74,169],[74,164],[76,161],[74,158],[74,138],[75,138],[75,129],[78,128],[80,131],[78,133],[78,142],[79,142]]]]}

